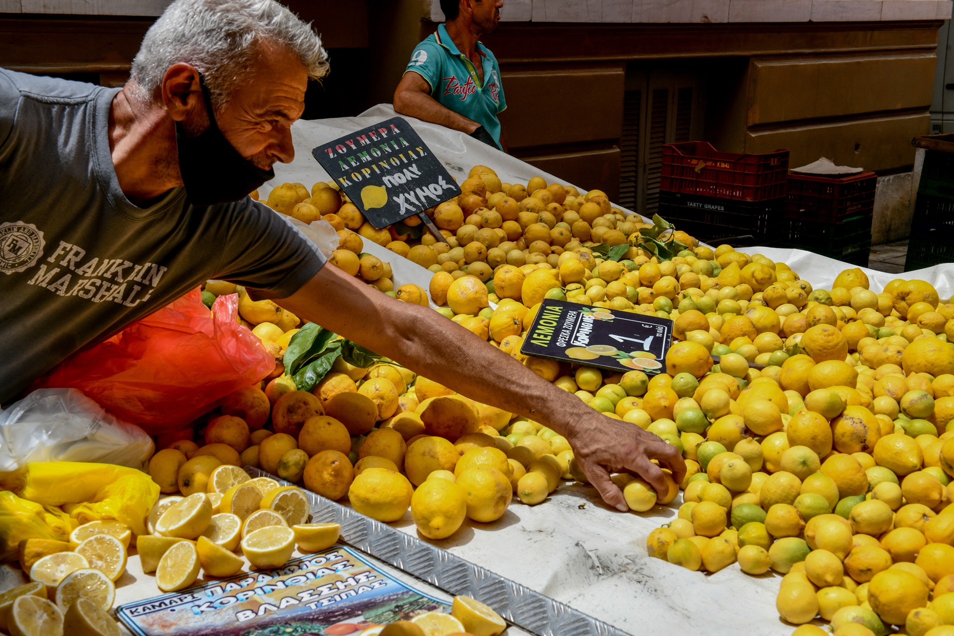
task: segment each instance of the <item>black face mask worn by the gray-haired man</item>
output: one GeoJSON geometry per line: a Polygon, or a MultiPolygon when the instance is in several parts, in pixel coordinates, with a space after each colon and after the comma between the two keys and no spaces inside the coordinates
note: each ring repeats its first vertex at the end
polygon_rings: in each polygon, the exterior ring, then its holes
{"type": "Polygon", "coordinates": [[[218,129],[212,100],[202,76],[198,77],[209,127],[196,136],[187,136],[176,121],[176,148],[179,173],[186,196],[193,205],[213,205],[238,201],[275,177],[274,170],[261,170],[239,154],[218,129]]]}

